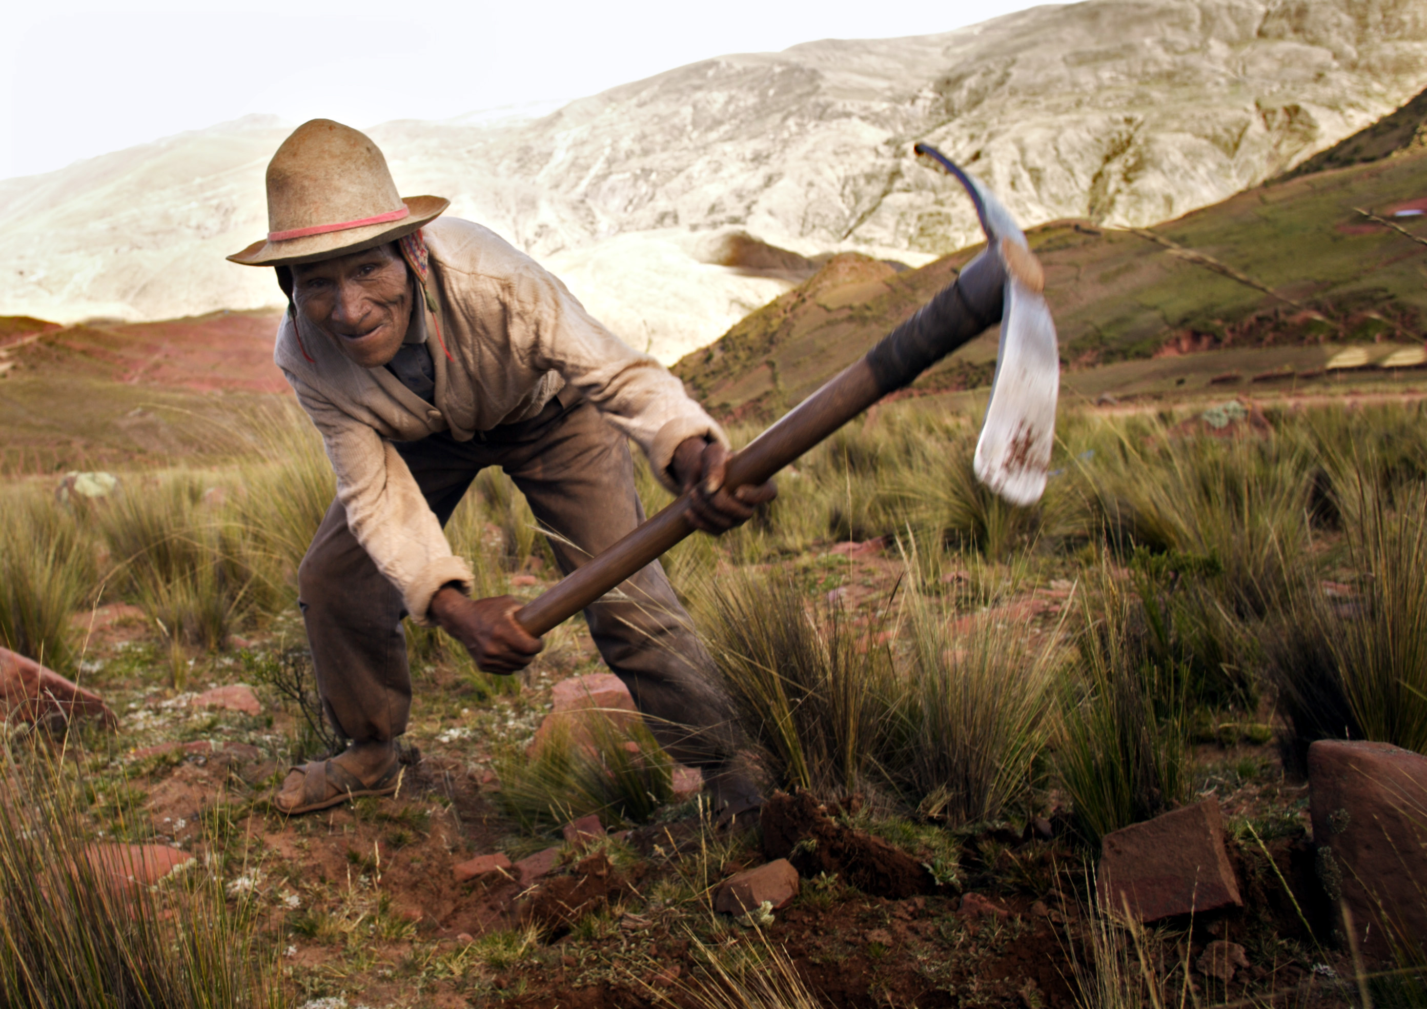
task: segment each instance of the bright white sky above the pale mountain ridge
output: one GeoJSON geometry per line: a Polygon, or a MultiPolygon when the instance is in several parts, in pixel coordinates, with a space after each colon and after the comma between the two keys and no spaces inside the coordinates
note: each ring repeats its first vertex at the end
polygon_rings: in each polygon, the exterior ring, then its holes
{"type": "Polygon", "coordinates": [[[0,178],[250,113],[357,127],[558,103],[725,53],[950,31],[1030,0],[13,3],[0,178]]]}

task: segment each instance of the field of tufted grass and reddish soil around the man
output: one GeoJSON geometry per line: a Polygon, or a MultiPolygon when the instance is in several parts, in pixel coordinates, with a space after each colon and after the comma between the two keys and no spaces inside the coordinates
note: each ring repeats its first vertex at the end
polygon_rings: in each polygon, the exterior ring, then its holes
{"type": "MultiPolygon", "coordinates": [[[[331,477],[293,412],[250,425],[240,458],[123,472],[107,500],[60,505],[49,478],[7,485],[0,635],[121,714],[117,734],[11,732],[9,765],[78,789],[51,818],[54,843],[197,855],[188,889],[140,913],[207,908],[191,936],[204,962],[228,963],[217,948],[234,943],[281,950],[275,975],[244,975],[257,1000],[280,978],[271,998],[314,1006],[746,1005],[749,992],[769,1006],[1160,1005],[1206,983],[1193,958],[1227,936],[1253,970],[1202,1002],[1356,1003],[1356,988],[1314,982],[1316,965],[1344,978],[1354,965],[1297,868],[1299,775],[1324,735],[1427,746],[1427,661],[1397,631],[1420,621],[1427,564],[1424,408],[1229,402],[1066,410],[1045,500],[1015,509],[969,478],[970,415],[906,400],[801,460],[748,527],[666,559],[769,785],[842,802],[848,829],[925,862],[926,896],[823,873],[762,923],[714,913],[719,879],[761,859],[758,833],[674,803],[646,732],[527,754],[549,686],[599,668],[578,621],[517,679],[411,628],[410,791],[275,815],[285,764],[331,742],[313,722],[293,589],[331,477]],[[253,684],[264,714],[190,706],[228,682],[253,684]],[[1102,913],[1086,875],[1097,839],[1204,793],[1261,899],[1153,931],[1102,913]],[[561,848],[561,823],[588,812],[632,833],[561,848]],[[561,891],[575,911],[555,913],[492,883],[450,885],[471,853],[551,845],[567,865],[554,879],[606,881],[598,899],[561,891]],[[969,892],[1005,916],[959,912],[969,892]]],[[[668,500],[642,471],[641,488],[649,508],[668,500]]],[[[482,594],[552,582],[499,474],[448,534],[482,594]]],[[[0,819],[0,848],[26,836],[0,819]]],[[[16,851],[16,865],[33,858],[16,851]]],[[[144,935],[163,942],[158,926],[144,935]]],[[[134,962],[141,940],[106,955],[134,962]]],[[[7,983],[7,1003],[40,1005],[7,983]]],[[[1373,983],[1420,1003],[1391,976],[1373,983]]]]}

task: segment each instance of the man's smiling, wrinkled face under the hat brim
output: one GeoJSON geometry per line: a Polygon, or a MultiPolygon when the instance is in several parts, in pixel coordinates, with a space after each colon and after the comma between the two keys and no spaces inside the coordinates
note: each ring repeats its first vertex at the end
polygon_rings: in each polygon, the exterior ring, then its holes
{"type": "Polygon", "coordinates": [[[395,243],[293,267],[297,310],[364,368],[380,368],[401,350],[412,301],[395,243]]]}

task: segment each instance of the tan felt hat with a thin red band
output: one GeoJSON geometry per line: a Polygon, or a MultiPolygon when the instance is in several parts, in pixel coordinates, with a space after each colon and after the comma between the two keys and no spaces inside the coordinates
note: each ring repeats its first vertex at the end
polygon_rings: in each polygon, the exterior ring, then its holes
{"type": "Polygon", "coordinates": [[[408,235],[451,206],[438,196],[402,200],[387,158],[360,130],[314,118],[268,163],[268,235],[228,258],[284,267],[360,253],[408,235]]]}

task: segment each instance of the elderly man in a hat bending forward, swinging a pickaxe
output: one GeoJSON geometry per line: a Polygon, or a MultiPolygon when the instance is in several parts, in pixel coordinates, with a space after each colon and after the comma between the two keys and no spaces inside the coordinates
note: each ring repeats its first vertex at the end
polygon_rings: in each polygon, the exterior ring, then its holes
{"type": "MultiPolygon", "coordinates": [[[[288,813],[400,782],[395,739],[411,679],[402,617],[435,624],[487,672],[512,674],[541,641],[511,597],[469,598],[442,525],[498,465],[551,531],[562,571],[644,521],[628,440],[694,522],[722,532],[773,497],[722,488],[726,437],[678,380],[596,323],[555,277],[487,228],[441,218],[448,201],[397,194],[375,144],[330,120],[298,127],[267,171],[268,237],[228,257],[275,267],[288,297],[275,361],[337,474],[298,571],[317,686],[350,739],[294,768],[288,813]]],[[[676,759],[704,771],[715,806],[758,802],[709,661],[658,564],[585,611],[609,668],[676,759]]]]}

